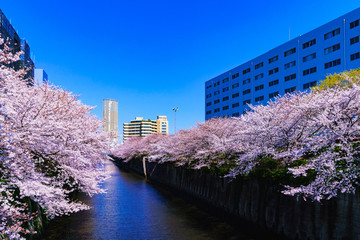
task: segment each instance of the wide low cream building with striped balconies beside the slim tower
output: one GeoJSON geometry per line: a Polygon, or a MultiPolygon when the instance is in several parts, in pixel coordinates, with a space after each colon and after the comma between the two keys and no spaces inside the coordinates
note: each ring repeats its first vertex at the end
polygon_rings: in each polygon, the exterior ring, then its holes
{"type": "Polygon", "coordinates": [[[154,133],[168,135],[168,129],[169,122],[166,116],[157,116],[157,120],[136,117],[135,120],[123,124],[124,141],[130,137],[146,137],[154,133]]]}

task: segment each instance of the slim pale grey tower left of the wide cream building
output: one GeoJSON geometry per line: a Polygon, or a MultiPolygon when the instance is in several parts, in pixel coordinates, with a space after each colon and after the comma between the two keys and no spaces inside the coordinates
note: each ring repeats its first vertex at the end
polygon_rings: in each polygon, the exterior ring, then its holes
{"type": "Polygon", "coordinates": [[[111,138],[117,140],[118,134],[118,101],[103,100],[104,132],[111,132],[111,138]]]}

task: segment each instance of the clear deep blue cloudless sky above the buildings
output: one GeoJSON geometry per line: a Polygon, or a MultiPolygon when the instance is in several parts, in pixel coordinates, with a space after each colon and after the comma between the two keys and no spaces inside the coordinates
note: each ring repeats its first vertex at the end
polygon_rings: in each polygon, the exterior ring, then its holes
{"type": "MultiPolygon", "coordinates": [[[[1,1],[49,80],[122,123],[167,115],[203,122],[205,81],[327,23],[360,1],[1,1]]],[[[34,57],[33,57],[34,59],[34,57]]]]}

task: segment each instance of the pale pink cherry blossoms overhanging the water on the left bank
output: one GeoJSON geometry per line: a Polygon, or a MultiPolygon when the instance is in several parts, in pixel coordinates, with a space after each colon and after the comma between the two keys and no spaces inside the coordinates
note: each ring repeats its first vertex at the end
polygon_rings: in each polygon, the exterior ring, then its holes
{"type": "Polygon", "coordinates": [[[19,54],[1,41],[0,234],[17,239],[32,217],[24,198],[50,218],[89,208],[69,194],[104,192],[99,184],[107,177],[102,165],[110,142],[92,107],[72,93],[49,84],[29,87],[24,70],[8,67],[19,54]]]}

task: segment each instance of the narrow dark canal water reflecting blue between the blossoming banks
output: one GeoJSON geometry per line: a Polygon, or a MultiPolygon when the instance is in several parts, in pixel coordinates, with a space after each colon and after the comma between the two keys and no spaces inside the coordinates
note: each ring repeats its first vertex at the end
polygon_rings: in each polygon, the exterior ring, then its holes
{"type": "MultiPolygon", "coordinates": [[[[107,194],[81,197],[92,209],[51,221],[43,240],[262,239],[109,162],[107,194]]],[[[254,234],[255,235],[255,234],[254,234]]]]}

